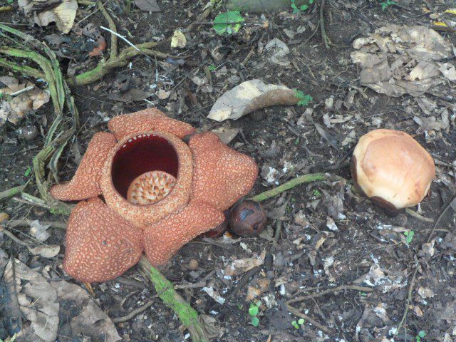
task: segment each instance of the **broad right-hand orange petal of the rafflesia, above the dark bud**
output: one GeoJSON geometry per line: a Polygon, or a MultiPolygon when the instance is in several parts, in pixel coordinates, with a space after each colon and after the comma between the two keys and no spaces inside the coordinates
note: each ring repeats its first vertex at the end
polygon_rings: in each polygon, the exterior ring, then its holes
{"type": "Polygon", "coordinates": [[[194,135],[189,146],[195,165],[192,200],[223,211],[252,189],[258,167],[251,157],[224,145],[214,133],[194,135]]]}

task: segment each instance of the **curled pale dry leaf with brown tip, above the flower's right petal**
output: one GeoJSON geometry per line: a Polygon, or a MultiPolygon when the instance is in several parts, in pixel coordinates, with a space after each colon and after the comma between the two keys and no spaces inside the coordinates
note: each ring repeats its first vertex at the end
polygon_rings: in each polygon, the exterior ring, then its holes
{"type": "Polygon", "coordinates": [[[294,90],[255,79],[245,81],[220,96],[207,118],[216,121],[237,120],[257,109],[271,105],[294,105],[298,101],[294,90]]]}

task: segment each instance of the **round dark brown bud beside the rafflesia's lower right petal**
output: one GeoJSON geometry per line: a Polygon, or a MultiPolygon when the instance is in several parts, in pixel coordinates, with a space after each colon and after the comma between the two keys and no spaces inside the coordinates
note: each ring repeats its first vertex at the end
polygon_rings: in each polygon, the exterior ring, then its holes
{"type": "Polygon", "coordinates": [[[259,202],[247,199],[229,214],[229,229],[240,237],[255,237],[266,227],[266,213],[259,202]]]}

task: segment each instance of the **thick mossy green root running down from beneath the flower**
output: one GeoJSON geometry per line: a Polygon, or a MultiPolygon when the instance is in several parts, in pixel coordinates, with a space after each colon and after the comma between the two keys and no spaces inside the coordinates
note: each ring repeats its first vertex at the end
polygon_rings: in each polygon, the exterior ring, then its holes
{"type": "Polygon", "coordinates": [[[204,321],[199,318],[197,311],[180,294],[177,294],[173,289],[172,283],[160,271],[155,269],[145,257],[141,257],[139,265],[142,271],[147,274],[150,281],[152,281],[160,299],[177,314],[182,324],[188,329],[192,341],[209,342],[206,329],[204,328],[204,321]]]}

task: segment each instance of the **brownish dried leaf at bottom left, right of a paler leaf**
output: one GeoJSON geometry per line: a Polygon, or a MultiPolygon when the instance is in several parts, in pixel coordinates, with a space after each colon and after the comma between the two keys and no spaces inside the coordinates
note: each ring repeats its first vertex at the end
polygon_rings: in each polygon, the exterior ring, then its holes
{"type": "MultiPolygon", "coordinates": [[[[81,287],[66,281],[51,281],[60,302],[61,330],[90,341],[120,341],[114,323],[81,287]]],[[[63,336],[62,336],[63,337],[63,336]]]]}

